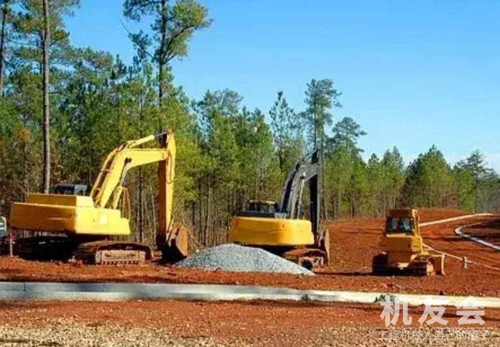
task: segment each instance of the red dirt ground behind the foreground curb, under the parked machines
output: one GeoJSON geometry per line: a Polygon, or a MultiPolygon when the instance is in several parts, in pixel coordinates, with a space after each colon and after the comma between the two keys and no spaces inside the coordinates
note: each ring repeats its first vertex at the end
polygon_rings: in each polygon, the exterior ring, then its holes
{"type": "MultiPolygon", "coordinates": [[[[420,210],[422,221],[466,214],[445,209],[420,210]]],[[[463,240],[453,233],[457,225],[492,221],[494,217],[475,217],[445,224],[422,227],[424,241],[429,245],[469,260],[500,267],[500,254],[463,240]]],[[[362,290],[375,292],[462,294],[500,296],[500,271],[470,264],[461,268],[461,261],[445,259],[444,276],[403,277],[373,276],[371,257],[378,252],[382,219],[344,220],[328,224],[332,243],[332,265],[316,276],[269,273],[231,273],[178,269],[173,266],[148,264],[139,267],[86,266],[66,263],[26,261],[0,257],[0,280],[49,281],[142,281],[164,283],[231,283],[324,290],[362,290]]]]}

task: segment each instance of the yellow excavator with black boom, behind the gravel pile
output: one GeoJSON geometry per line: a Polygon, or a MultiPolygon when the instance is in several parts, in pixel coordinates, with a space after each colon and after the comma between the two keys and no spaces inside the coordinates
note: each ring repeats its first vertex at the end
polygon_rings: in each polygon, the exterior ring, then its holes
{"type": "Polygon", "coordinates": [[[306,268],[330,260],[329,235],[320,225],[321,156],[315,149],[288,172],[280,202],[250,200],[231,219],[229,242],[265,249],[306,268]],[[302,193],[309,187],[309,219],[302,217],[302,193]]]}

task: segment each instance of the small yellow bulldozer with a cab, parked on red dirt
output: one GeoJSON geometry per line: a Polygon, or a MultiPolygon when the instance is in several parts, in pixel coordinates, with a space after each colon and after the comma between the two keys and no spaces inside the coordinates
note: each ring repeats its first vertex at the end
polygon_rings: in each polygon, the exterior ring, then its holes
{"type": "Polygon", "coordinates": [[[423,249],[416,209],[388,211],[380,248],[382,252],[372,259],[373,274],[444,274],[444,254],[431,254],[423,249]]]}

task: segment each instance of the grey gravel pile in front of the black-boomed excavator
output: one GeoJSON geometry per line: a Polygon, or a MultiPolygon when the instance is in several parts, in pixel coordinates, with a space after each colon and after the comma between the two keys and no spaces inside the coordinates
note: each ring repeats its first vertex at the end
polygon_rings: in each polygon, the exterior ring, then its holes
{"type": "Polygon", "coordinates": [[[175,264],[209,270],[241,272],[278,272],[313,275],[303,266],[274,255],[266,250],[232,243],[205,248],[175,264]]]}

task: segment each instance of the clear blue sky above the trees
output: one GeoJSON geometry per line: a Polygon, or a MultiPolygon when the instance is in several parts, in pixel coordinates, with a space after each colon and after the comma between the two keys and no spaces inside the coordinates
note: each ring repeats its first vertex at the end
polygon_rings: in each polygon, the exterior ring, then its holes
{"type": "MultiPolygon", "coordinates": [[[[311,78],[331,78],[334,121],[361,124],[366,157],[395,145],[409,161],[436,144],[451,163],[479,149],[500,172],[500,1],[200,2],[214,22],[173,64],[191,98],[231,88],[267,111],[282,89],[298,110],[311,78]]],[[[122,3],[81,0],[73,43],[129,61],[122,3]]]]}

